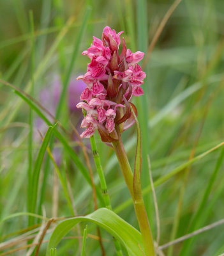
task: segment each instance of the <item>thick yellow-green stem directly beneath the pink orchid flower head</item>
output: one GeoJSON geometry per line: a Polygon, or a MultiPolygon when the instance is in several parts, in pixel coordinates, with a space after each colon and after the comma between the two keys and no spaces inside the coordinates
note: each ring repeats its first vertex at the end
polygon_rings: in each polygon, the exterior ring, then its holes
{"type": "MultiPolygon", "coordinates": [[[[119,132],[118,132],[119,134],[119,132]]],[[[137,216],[138,225],[140,228],[140,232],[142,234],[142,240],[144,243],[144,251],[146,256],[154,256],[154,244],[153,244],[153,236],[151,233],[151,229],[149,226],[149,220],[146,214],[146,208],[144,205],[144,200],[142,197],[142,189],[140,186],[135,187],[135,191],[133,189],[133,173],[131,171],[131,166],[128,161],[128,157],[126,155],[126,151],[124,149],[123,141],[121,139],[121,135],[119,134],[119,140],[114,141],[113,143],[114,150],[117,155],[117,159],[121,166],[121,171],[124,176],[124,180],[128,189],[130,191],[133,204],[135,207],[135,214],[137,216]]]]}

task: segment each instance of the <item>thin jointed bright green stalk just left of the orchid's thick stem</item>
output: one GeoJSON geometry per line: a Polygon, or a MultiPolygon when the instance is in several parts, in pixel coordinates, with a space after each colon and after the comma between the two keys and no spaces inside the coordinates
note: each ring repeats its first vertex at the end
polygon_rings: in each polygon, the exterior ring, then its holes
{"type": "MultiPolygon", "coordinates": [[[[111,206],[111,203],[110,203],[110,197],[108,195],[108,190],[107,190],[107,182],[106,182],[106,179],[105,179],[105,176],[104,176],[104,173],[103,173],[103,168],[101,166],[100,156],[99,156],[99,153],[98,153],[98,149],[97,149],[97,146],[96,146],[96,140],[95,140],[94,135],[91,136],[89,138],[89,140],[90,140],[91,148],[92,148],[92,151],[93,151],[93,158],[94,158],[94,162],[95,162],[95,165],[96,165],[96,170],[97,170],[99,178],[100,178],[100,186],[101,186],[101,190],[102,190],[102,193],[103,193],[103,200],[104,200],[104,204],[105,204],[104,206],[107,209],[112,210],[112,206],[111,206]]],[[[115,246],[116,251],[117,251],[117,256],[123,256],[123,253],[122,253],[122,250],[121,250],[121,244],[119,243],[119,241],[117,241],[117,239],[115,237],[113,237],[113,239],[114,239],[114,246],[115,246]]]]}

